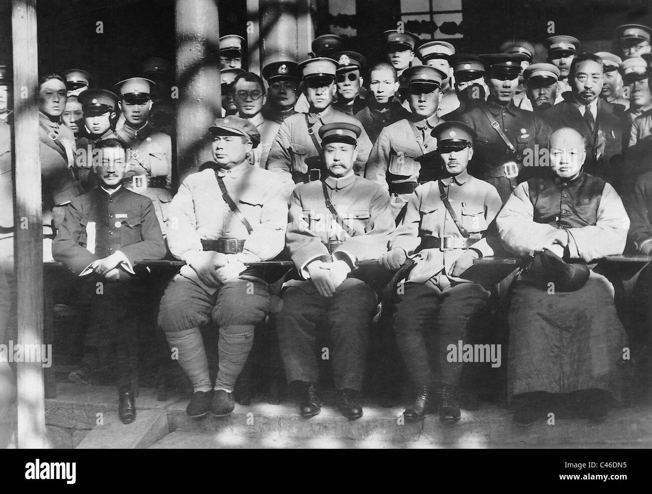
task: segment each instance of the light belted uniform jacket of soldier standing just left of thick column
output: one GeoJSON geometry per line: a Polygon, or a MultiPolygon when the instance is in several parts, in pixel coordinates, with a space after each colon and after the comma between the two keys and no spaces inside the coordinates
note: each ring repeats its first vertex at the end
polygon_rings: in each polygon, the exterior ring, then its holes
{"type": "Polygon", "coordinates": [[[171,138],[163,132],[155,132],[149,122],[138,130],[125,123],[116,134],[127,148],[123,185],[152,200],[156,217],[166,234],[165,222],[172,199],[171,138]]]}

